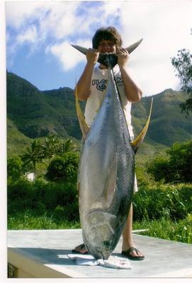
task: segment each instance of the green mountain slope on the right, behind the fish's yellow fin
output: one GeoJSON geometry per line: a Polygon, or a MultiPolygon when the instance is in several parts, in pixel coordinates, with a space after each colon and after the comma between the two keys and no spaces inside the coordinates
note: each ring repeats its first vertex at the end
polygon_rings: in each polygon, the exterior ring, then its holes
{"type": "MultiPolygon", "coordinates": [[[[141,103],[132,105],[132,122],[136,132],[145,123],[151,99],[152,97],[145,97],[141,103]]],[[[179,104],[185,100],[185,93],[171,89],[153,96],[152,117],[145,141],[171,146],[175,141],[191,139],[191,117],[186,118],[179,108],[179,104]]]]}

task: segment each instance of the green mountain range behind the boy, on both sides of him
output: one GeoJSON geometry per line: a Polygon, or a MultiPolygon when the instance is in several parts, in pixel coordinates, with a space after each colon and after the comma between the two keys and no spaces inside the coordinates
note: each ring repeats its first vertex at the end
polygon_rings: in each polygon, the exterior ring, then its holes
{"type": "MultiPolygon", "coordinates": [[[[132,125],[137,135],[145,125],[152,97],[132,105],[132,125]]],[[[179,103],[186,100],[183,92],[167,89],[153,96],[152,117],[140,147],[140,159],[164,152],[175,141],[192,137],[191,117],[181,113],[179,103]]],[[[81,103],[84,109],[85,103],[81,103]]],[[[74,94],[71,88],[39,91],[16,74],[7,72],[7,144],[8,156],[25,150],[31,139],[45,137],[49,132],[60,137],[81,139],[74,94]]]]}

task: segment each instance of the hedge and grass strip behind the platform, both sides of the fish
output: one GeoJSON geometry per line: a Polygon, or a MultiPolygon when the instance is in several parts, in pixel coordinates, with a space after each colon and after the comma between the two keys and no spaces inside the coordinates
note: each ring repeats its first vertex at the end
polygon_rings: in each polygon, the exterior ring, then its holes
{"type": "MultiPolygon", "coordinates": [[[[154,184],[142,170],[137,179],[133,230],[148,229],[142,235],[192,243],[191,184],[154,184]]],[[[41,179],[8,183],[9,230],[79,228],[76,184],[41,179]]]]}

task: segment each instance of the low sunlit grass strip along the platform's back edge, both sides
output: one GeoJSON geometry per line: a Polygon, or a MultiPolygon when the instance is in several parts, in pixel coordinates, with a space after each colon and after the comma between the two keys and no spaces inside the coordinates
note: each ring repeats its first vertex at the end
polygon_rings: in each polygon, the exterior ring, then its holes
{"type": "MultiPolygon", "coordinates": [[[[79,221],[67,221],[57,218],[54,211],[44,212],[41,216],[28,209],[23,212],[17,212],[9,216],[8,229],[14,230],[32,230],[32,229],[80,229],[79,221]]],[[[135,221],[133,230],[148,229],[142,232],[142,235],[154,238],[162,238],[182,243],[192,243],[192,214],[188,214],[186,219],[178,222],[171,219],[158,219],[135,221]]]]}

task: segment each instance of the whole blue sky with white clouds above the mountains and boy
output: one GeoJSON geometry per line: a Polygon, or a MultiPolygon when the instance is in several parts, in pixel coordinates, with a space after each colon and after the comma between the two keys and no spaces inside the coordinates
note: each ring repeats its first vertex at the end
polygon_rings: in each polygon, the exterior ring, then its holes
{"type": "Polygon", "coordinates": [[[179,90],[171,65],[192,47],[192,1],[5,1],[6,69],[40,91],[74,88],[97,28],[113,25],[123,47],[143,38],[128,62],[144,96],[179,90]]]}

